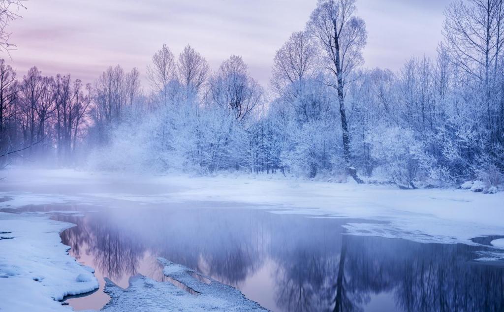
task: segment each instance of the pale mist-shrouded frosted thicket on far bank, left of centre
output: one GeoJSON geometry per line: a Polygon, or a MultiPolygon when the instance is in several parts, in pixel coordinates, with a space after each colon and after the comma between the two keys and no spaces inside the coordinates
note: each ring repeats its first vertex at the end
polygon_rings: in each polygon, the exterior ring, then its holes
{"type": "Polygon", "coordinates": [[[175,102],[121,122],[110,144],[95,149],[88,164],[100,170],[201,173],[236,167],[246,140],[243,127],[224,108],[175,102]]]}

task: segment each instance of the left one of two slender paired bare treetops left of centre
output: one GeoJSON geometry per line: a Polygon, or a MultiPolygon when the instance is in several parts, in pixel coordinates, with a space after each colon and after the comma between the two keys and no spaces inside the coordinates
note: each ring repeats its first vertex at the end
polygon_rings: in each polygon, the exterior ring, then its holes
{"type": "Polygon", "coordinates": [[[154,92],[158,93],[164,105],[168,102],[168,83],[174,78],[175,61],[173,53],[163,44],[152,56],[152,65],[147,67],[147,78],[154,92]]]}

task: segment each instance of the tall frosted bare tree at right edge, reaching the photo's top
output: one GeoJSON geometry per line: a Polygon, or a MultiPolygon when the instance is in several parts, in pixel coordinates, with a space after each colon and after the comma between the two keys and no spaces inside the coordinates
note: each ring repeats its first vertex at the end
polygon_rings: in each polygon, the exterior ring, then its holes
{"type": "MultiPolygon", "coordinates": [[[[502,111],[504,3],[502,0],[456,2],[446,10],[446,48],[479,101],[480,122],[489,131],[490,145],[504,143],[499,126],[502,111]]],[[[490,147],[490,146],[489,146],[490,147]]]]}

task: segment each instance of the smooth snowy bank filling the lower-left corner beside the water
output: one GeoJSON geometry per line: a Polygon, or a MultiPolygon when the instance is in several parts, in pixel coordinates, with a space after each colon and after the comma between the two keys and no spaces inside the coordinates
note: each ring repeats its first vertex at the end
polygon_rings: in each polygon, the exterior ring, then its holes
{"type": "Polygon", "coordinates": [[[0,212],[0,310],[69,311],[60,302],[98,288],[98,280],[68,254],[59,232],[70,223],[39,214],[0,212]]]}

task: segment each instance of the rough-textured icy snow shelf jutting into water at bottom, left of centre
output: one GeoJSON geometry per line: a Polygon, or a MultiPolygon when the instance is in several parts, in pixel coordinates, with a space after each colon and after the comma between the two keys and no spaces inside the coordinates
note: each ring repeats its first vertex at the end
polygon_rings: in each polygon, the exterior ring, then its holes
{"type": "Polygon", "coordinates": [[[267,311],[251,301],[237,289],[221,284],[214,279],[196,273],[182,265],[165,259],[163,273],[194,290],[184,291],[169,282],[156,282],[145,276],[130,278],[130,286],[122,289],[105,279],[105,292],[111,300],[103,311],[267,311]],[[205,283],[198,278],[210,281],[205,283]]]}

